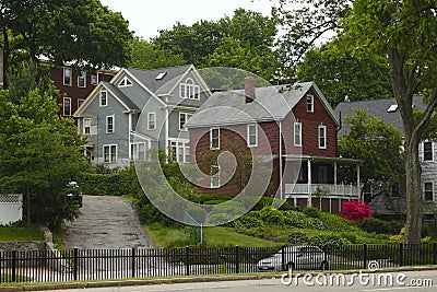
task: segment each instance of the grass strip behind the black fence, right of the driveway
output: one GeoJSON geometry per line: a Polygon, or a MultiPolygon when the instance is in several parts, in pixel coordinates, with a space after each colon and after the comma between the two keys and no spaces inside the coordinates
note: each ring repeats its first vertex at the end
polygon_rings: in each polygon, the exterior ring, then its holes
{"type": "MultiPolygon", "coordinates": [[[[163,227],[160,224],[150,224],[146,227],[149,234],[152,235],[156,246],[160,247],[184,247],[196,245],[191,238],[190,227],[163,227]]],[[[225,246],[263,246],[276,247],[279,244],[257,237],[236,233],[229,227],[204,227],[203,229],[204,246],[225,247],[225,246]]]]}

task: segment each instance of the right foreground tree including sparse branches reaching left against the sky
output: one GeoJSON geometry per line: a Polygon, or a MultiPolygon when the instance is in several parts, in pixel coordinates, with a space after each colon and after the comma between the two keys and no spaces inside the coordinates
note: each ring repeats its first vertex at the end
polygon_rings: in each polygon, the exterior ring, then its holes
{"type": "Polygon", "coordinates": [[[359,58],[374,54],[387,58],[393,96],[404,127],[408,206],[404,241],[420,243],[422,189],[418,143],[437,105],[436,1],[307,0],[305,3],[309,5],[300,9],[300,14],[281,13],[284,7],[276,10],[283,15],[282,24],[288,28],[283,47],[297,48],[297,54],[286,56],[302,57],[323,30],[332,28],[342,34],[354,56],[359,58]],[[314,11],[318,13],[311,13],[314,11]],[[422,118],[415,120],[412,101],[421,89],[428,104],[422,118]]]}

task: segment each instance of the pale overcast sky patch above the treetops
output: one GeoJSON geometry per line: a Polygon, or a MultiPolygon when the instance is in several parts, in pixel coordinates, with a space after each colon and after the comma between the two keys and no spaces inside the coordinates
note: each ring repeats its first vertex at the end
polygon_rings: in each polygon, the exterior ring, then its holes
{"type": "Polygon", "coordinates": [[[144,39],[177,22],[191,25],[200,20],[217,21],[233,16],[237,8],[270,15],[271,0],[101,0],[111,11],[121,12],[129,28],[144,39]]]}

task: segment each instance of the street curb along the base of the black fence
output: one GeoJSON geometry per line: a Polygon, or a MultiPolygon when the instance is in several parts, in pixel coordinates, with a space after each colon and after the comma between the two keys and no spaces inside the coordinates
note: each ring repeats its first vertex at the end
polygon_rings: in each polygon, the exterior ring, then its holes
{"type": "MultiPolygon", "coordinates": [[[[437,270],[437,266],[424,267],[402,267],[387,268],[376,272],[401,272],[401,271],[428,271],[437,270]]],[[[326,271],[327,273],[358,273],[363,270],[347,271],[326,271]]],[[[320,272],[309,272],[314,276],[320,272]]],[[[168,278],[168,279],[143,279],[143,280],[115,280],[99,282],[67,282],[52,284],[22,284],[12,287],[0,287],[0,292],[22,292],[22,291],[46,291],[46,290],[63,290],[63,289],[90,289],[90,288],[120,288],[135,285],[156,285],[156,284],[175,284],[175,283],[200,283],[200,282],[223,282],[223,281],[244,281],[244,280],[262,280],[262,279],[280,279],[283,273],[274,275],[253,275],[253,276],[210,276],[193,278],[168,278]]]]}

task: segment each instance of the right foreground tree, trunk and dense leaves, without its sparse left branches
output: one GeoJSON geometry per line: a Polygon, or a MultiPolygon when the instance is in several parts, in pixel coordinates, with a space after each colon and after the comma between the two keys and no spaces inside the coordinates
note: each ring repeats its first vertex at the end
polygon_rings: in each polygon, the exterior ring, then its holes
{"type": "Polygon", "coordinates": [[[354,1],[343,23],[357,55],[362,50],[386,54],[390,65],[393,96],[404,128],[406,168],[405,243],[420,243],[422,187],[418,143],[437,105],[437,2],[354,1]],[[420,120],[414,120],[413,96],[422,82],[428,101],[420,120]]]}

